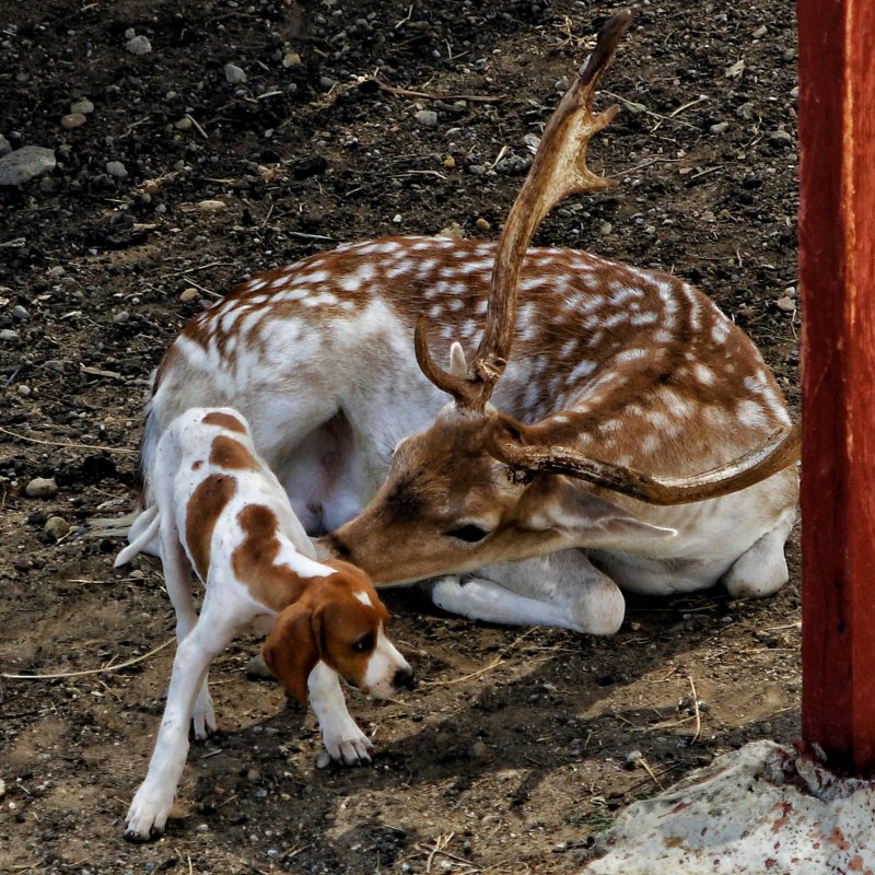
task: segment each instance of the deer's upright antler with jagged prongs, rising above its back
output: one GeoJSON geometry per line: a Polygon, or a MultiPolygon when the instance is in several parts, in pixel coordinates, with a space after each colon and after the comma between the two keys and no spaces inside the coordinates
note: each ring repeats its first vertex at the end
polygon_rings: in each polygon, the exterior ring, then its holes
{"type": "Polygon", "coordinates": [[[617,185],[612,179],[590,172],[586,148],[593,136],[607,127],[619,110],[619,107],[611,106],[594,115],[593,94],[635,14],[635,10],[628,9],[605,23],[595,50],[547,124],[535,161],[511,208],[499,242],[486,328],[466,377],[448,374],[435,364],[428,348],[424,316],[417,323],[415,342],[420,369],[435,386],[450,393],[456,404],[465,409],[477,412],[485,410],[495,383],[508,365],[516,325],[517,280],[526,249],[538,225],[568,195],[617,185]]]}

